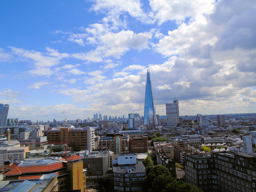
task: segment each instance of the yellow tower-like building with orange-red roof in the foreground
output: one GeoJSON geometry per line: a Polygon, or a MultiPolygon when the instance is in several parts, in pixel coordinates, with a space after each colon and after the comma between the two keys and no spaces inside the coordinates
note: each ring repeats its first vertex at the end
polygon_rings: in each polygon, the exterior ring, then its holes
{"type": "Polygon", "coordinates": [[[83,158],[74,155],[67,159],[67,171],[70,173],[70,190],[86,191],[83,158]]]}

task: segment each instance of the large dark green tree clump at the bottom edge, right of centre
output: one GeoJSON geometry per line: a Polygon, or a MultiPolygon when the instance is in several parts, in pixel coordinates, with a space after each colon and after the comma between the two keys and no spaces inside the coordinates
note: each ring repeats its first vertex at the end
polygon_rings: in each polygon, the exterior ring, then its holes
{"type": "Polygon", "coordinates": [[[197,187],[176,180],[169,170],[161,165],[146,168],[146,178],[143,183],[144,192],[201,192],[197,187]]]}

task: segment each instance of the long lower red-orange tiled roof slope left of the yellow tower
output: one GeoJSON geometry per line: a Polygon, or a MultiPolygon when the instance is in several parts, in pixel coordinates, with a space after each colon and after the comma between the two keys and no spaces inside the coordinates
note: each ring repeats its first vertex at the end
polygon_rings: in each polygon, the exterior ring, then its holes
{"type": "Polygon", "coordinates": [[[22,173],[28,172],[47,172],[52,170],[57,170],[65,167],[62,162],[50,164],[50,165],[41,165],[41,166],[26,166],[26,167],[15,167],[12,170],[4,173],[4,175],[20,175],[22,173]]]}

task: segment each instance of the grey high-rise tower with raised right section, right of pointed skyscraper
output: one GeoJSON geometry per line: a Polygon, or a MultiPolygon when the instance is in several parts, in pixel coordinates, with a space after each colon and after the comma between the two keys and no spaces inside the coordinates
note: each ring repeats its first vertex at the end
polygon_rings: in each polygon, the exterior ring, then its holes
{"type": "Polygon", "coordinates": [[[176,126],[180,122],[178,98],[174,98],[173,103],[166,103],[166,124],[176,126]]]}

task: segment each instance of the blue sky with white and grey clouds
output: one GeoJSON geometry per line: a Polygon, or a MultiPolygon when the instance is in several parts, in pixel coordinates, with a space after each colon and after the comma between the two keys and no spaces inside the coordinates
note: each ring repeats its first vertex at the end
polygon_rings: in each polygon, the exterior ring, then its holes
{"type": "Polygon", "coordinates": [[[0,102],[52,121],[256,112],[256,1],[2,0],[0,102]],[[62,114],[64,113],[64,116],[62,114]]]}

